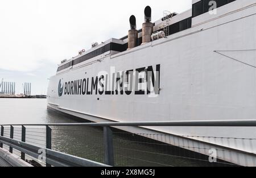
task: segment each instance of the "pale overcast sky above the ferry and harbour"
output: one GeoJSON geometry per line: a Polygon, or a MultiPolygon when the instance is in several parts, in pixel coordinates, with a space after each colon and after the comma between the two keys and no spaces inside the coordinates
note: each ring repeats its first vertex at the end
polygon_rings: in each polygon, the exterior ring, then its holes
{"type": "MultiPolygon", "coordinates": [[[[144,7],[152,21],[163,11],[182,13],[192,0],[8,0],[0,2],[0,80],[32,83],[32,94],[46,94],[48,80],[63,59],[89,49],[92,42],[127,35],[129,17],[141,28],[144,7]]],[[[0,81],[1,82],[1,81],[0,81]]]]}

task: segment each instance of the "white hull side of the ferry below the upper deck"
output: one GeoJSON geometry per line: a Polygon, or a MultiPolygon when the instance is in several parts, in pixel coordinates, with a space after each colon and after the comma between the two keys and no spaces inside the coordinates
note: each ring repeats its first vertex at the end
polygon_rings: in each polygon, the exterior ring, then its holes
{"type": "MultiPolygon", "coordinates": [[[[104,56],[51,77],[48,106],[93,122],[202,121],[256,119],[256,6],[222,16],[168,38],[126,52],[104,56]],[[96,94],[92,77],[105,71],[159,69],[159,93],[126,94],[111,89],[96,94]],[[85,94],[58,95],[59,81],[85,78],[85,94]],[[90,93],[88,93],[90,92],[90,93]],[[113,93],[112,93],[113,92],[113,93]]],[[[135,74],[134,74],[135,76],[135,74]]],[[[156,76],[156,74],[155,74],[156,76]]],[[[143,78],[143,76],[142,76],[143,78]]],[[[144,77],[145,78],[145,77],[144,77]]],[[[109,82],[112,84],[112,82],[109,82]]],[[[100,88],[100,84],[98,84],[100,88]]],[[[134,84],[136,85],[136,84],[134,84]]],[[[65,93],[65,84],[63,84],[65,93]]],[[[66,91],[67,92],[67,91],[66,91]]],[[[217,146],[255,153],[254,128],[143,127],[183,135],[217,146]],[[222,139],[218,139],[222,138],[222,139]],[[236,141],[228,138],[238,138],[236,141]],[[245,139],[239,139],[245,138],[245,139]]],[[[125,129],[123,129],[125,130],[125,129]]],[[[135,133],[137,129],[129,130],[135,133]]],[[[222,156],[223,157],[223,156],[222,156]]],[[[255,163],[256,164],[256,163],[255,163]]]]}

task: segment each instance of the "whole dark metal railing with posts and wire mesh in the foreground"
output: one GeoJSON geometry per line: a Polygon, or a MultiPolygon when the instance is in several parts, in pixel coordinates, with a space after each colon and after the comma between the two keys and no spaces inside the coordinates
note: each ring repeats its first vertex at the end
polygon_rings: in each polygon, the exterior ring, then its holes
{"type": "MultiPolygon", "coordinates": [[[[3,145],[6,145],[9,147],[9,151],[11,153],[15,151],[20,151],[18,154],[20,154],[20,157],[23,160],[26,160],[26,156],[30,156],[31,159],[38,159],[42,155],[42,151],[45,151],[44,158],[45,158],[45,165],[46,166],[114,166],[117,164],[114,164],[115,162],[115,157],[120,156],[122,159],[137,159],[140,161],[145,161],[141,158],[132,158],[131,155],[121,155],[123,151],[131,152],[131,151],[137,151],[137,152],[143,152],[143,154],[156,154],[160,156],[172,156],[176,158],[185,158],[185,159],[195,159],[195,160],[200,160],[199,158],[192,158],[191,156],[184,156],[184,155],[172,155],[172,154],[165,154],[162,152],[157,152],[157,151],[145,151],[145,150],[138,150],[136,148],[127,148],[127,147],[120,147],[120,145],[124,144],[131,144],[131,143],[142,143],[142,144],[154,144],[158,145],[159,148],[162,148],[163,146],[170,146],[170,144],[173,144],[177,147],[180,148],[185,148],[186,150],[200,150],[197,152],[200,152],[201,154],[204,154],[204,150],[209,150],[211,147],[216,148],[217,151],[224,151],[229,148],[228,147],[214,147],[213,144],[203,142],[200,140],[200,146],[193,146],[193,144],[184,144],[184,139],[187,140],[188,142],[194,140],[196,137],[197,138],[204,138],[204,136],[185,136],[185,135],[169,135],[169,134],[156,134],[154,131],[148,132],[148,133],[119,133],[119,137],[113,139],[113,129],[112,127],[131,127],[131,126],[136,126],[136,127],[148,127],[148,126],[174,126],[174,127],[179,127],[179,126],[196,126],[196,127],[255,127],[256,126],[256,121],[254,120],[249,120],[249,121],[174,121],[174,122],[110,122],[110,123],[50,123],[50,124],[26,124],[26,125],[1,125],[1,136],[0,136],[0,147],[3,148],[3,145]],[[60,129],[61,127],[61,129],[60,129]],[[64,128],[62,128],[64,127],[64,128]],[[60,151],[52,150],[52,144],[56,144],[56,142],[60,142],[59,140],[59,135],[62,136],[67,136],[68,139],[71,139],[69,144],[73,144],[72,139],[88,139],[90,137],[96,136],[97,131],[92,130],[90,134],[86,134],[86,138],[82,138],[82,134],[80,135],[75,135],[74,138],[70,137],[70,134],[75,133],[76,131],[79,130],[71,130],[69,127],[97,127],[97,128],[103,128],[103,130],[99,129],[98,132],[101,133],[102,135],[99,134],[98,138],[102,136],[102,140],[100,142],[104,143],[104,163],[102,162],[101,159],[92,161],[89,159],[85,158],[80,158],[80,155],[78,156],[73,156],[70,154],[64,154],[60,151]],[[5,133],[7,131],[8,134],[5,133]],[[67,131],[70,131],[67,133],[67,131]],[[56,134],[57,133],[57,134],[56,134]],[[158,140],[160,142],[151,142],[150,140],[144,140],[144,142],[140,142],[138,140],[129,140],[125,139],[123,135],[128,135],[128,134],[135,134],[135,135],[141,135],[143,138],[150,138],[154,140],[158,140]],[[120,137],[120,135],[122,135],[120,137]],[[163,139],[159,139],[159,136],[163,137],[168,136],[168,138],[171,140],[166,141],[167,137],[163,139]],[[157,139],[155,138],[158,137],[157,139]],[[170,137],[172,136],[172,137],[170,137]],[[175,139],[180,139],[177,142],[175,139]],[[116,151],[119,152],[119,154],[115,155],[114,154],[114,141],[118,140],[118,145],[119,149],[116,151]],[[125,142],[124,142],[125,140],[125,142]],[[162,141],[163,140],[163,141],[162,141]],[[165,141],[164,141],[165,140],[165,141]],[[180,144],[183,143],[183,144],[180,144]],[[191,146],[192,145],[192,146],[191,146]],[[205,147],[205,145],[210,145],[209,148],[205,147]],[[203,151],[201,151],[203,150],[203,151]],[[41,152],[39,152],[41,151],[41,152]],[[191,157],[191,158],[188,158],[191,157]]],[[[86,131],[88,132],[88,131],[86,131]]],[[[114,132],[115,135],[118,134],[118,132],[114,132]]],[[[101,138],[100,138],[101,139],[101,138]]],[[[216,139],[216,138],[215,138],[216,139]]],[[[242,138],[243,140],[244,138],[242,138]]],[[[251,140],[251,138],[249,139],[251,140]]],[[[93,140],[94,142],[94,140],[93,140]]],[[[92,142],[92,143],[93,143],[92,142]]],[[[68,144],[68,142],[63,141],[61,144],[68,144]]],[[[96,144],[96,142],[95,142],[96,144]]],[[[87,147],[88,144],[82,145],[82,147],[87,147]]],[[[77,146],[73,146],[77,147],[77,146]]],[[[89,148],[88,148],[89,149],[89,148]]],[[[98,150],[101,150],[101,146],[97,146],[98,150]]],[[[97,149],[90,149],[93,150],[93,154],[98,154],[101,155],[101,151],[98,151],[97,149]]],[[[244,152],[244,151],[238,151],[231,149],[231,151],[236,152],[237,154],[242,154],[242,156],[247,156],[248,154],[254,156],[254,152],[244,152]]],[[[86,151],[86,148],[85,150],[86,151]]],[[[88,155],[90,157],[92,155],[91,151],[88,155]]],[[[231,153],[230,153],[231,154],[231,153]]],[[[141,155],[139,155],[141,156],[141,155]]],[[[139,157],[138,156],[138,157],[139,157]]],[[[225,156],[224,156],[225,157],[225,156]]],[[[158,158],[158,156],[156,156],[158,158]]],[[[159,157],[160,158],[160,157],[159,157]]],[[[161,157],[162,158],[162,157],[161,157]]],[[[247,158],[246,158],[247,159],[247,158]]],[[[202,160],[202,161],[208,161],[208,160],[202,160]]],[[[146,160],[148,163],[154,163],[159,164],[159,165],[169,165],[167,163],[156,163],[152,162],[152,160],[146,160]]],[[[235,162],[235,161],[233,161],[235,162]]],[[[227,163],[227,162],[219,162],[220,164],[225,164],[225,165],[236,165],[236,163],[227,163]]],[[[120,165],[120,164],[118,164],[120,165]]],[[[243,164],[240,164],[243,165],[243,164]]],[[[245,164],[246,165],[246,164],[245,164]]],[[[250,165],[250,164],[248,164],[250,165]]],[[[171,165],[169,165],[171,166],[171,165]]]]}

